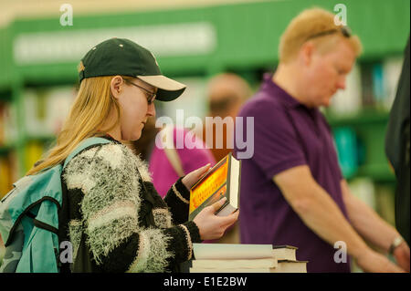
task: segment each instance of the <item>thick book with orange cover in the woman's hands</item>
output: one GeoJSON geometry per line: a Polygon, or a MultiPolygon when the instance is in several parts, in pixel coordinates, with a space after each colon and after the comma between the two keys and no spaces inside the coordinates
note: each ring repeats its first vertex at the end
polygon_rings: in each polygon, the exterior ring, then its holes
{"type": "Polygon", "coordinates": [[[226,216],[235,212],[239,205],[240,175],[241,161],[229,153],[190,189],[188,220],[192,221],[206,206],[223,197],[227,197],[227,201],[216,215],[226,216]]]}

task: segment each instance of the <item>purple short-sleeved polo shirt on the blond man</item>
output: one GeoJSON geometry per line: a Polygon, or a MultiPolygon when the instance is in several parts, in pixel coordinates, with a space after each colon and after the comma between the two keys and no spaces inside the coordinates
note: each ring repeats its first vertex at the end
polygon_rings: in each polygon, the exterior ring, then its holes
{"type": "MultiPolygon", "coordinates": [[[[319,109],[300,104],[271,77],[265,76],[258,93],[238,114],[245,130],[246,117],[254,117],[254,154],[242,160],[241,169],[241,243],[294,245],[299,248],[297,259],[309,261],[308,272],[350,272],[348,255],[347,263],[335,263],[337,249],[301,221],[272,181],[281,171],[308,165],[315,181],[347,218],[342,172],[328,123],[319,109]]],[[[235,149],[236,156],[239,151],[235,149]]]]}

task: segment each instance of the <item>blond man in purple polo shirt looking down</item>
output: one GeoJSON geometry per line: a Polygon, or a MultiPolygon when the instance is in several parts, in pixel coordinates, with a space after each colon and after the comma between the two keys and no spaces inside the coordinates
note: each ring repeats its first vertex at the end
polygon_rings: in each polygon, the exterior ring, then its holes
{"type": "Polygon", "coordinates": [[[242,160],[241,243],[295,245],[308,272],[350,272],[350,255],[367,272],[409,271],[405,243],[394,252],[397,262],[407,259],[401,267],[364,243],[388,252],[401,236],[350,192],[318,109],[344,88],[361,52],[358,37],[333,19],[319,8],[294,18],[276,73],[239,113],[254,118],[254,154],[242,160]]]}

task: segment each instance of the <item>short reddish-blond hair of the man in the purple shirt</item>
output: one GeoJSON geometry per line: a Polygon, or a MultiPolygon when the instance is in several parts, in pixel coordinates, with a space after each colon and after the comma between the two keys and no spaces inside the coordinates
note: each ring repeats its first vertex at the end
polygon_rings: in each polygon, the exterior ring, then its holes
{"type": "Polygon", "coordinates": [[[328,52],[341,38],[348,41],[358,57],[363,50],[360,39],[353,35],[344,37],[343,26],[336,25],[334,17],[331,12],[321,8],[307,9],[294,17],[279,40],[279,62],[287,63],[296,57],[300,47],[307,41],[312,41],[322,52],[328,52]]]}

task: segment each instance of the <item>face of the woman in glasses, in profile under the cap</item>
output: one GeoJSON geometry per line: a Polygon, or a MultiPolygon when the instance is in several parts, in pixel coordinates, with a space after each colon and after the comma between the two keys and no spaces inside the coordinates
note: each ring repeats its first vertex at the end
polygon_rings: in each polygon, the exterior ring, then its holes
{"type": "Polygon", "coordinates": [[[113,81],[111,82],[111,91],[114,91],[113,95],[118,99],[121,109],[121,140],[138,140],[147,119],[155,116],[152,93],[156,92],[157,88],[138,78],[128,80],[121,78],[122,82],[115,78],[113,78],[114,86],[113,81]],[[116,85],[118,82],[119,84],[116,85]]]}

